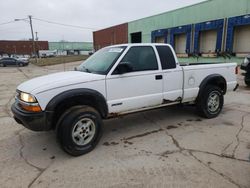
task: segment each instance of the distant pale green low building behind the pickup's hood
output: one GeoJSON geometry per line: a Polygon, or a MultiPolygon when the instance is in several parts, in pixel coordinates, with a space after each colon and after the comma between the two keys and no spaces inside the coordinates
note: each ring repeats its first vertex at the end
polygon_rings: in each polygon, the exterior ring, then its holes
{"type": "Polygon", "coordinates": [[[49,42],[49,50],[58,55],[88,55],[93,51],[92,42],[49,42]]]}

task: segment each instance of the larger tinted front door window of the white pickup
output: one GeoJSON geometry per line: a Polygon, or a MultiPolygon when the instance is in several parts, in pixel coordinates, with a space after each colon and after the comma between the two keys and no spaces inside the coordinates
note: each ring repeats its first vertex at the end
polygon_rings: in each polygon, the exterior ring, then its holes
{"type": "Polygon", "coordinates": [[[131,47],[121,62],[128,62],[133,72],[158,70],[158,62],[151,46],[131,47]]]}

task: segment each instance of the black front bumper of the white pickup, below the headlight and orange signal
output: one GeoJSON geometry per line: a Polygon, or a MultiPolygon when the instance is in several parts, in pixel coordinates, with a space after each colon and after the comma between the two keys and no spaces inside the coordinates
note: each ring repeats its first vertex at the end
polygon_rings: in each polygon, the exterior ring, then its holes
{"type": "Polygon", "coordinates": [[[22,110],[17,102],[11,106],[11,111],[14,114],[14,119],[18,124],[22,124],[27,129],[32,131],[49,131],[52,129],[51,126],[51,117],[52,113],[50,112],[27,112],[22,110]]]}

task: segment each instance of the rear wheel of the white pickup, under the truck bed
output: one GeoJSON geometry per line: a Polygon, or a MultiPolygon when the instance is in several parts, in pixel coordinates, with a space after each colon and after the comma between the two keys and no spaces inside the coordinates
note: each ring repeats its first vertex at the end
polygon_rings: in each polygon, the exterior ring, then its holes
{"type": "Polygon", "coordinates": [[[217,86],[208,85],[199,95],[197,112],[201,117],[212,119],[217,117],[224,105],[224,96],[217,86]]]}

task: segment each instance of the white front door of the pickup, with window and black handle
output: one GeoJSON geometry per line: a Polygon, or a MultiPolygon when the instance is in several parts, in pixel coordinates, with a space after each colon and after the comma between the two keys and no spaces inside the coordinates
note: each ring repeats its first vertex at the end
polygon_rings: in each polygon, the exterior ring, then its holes
{"type": "Polygon", "coordinates": [[[131,72],[107,76],[107,100],[110,113],[121,113],[160,105],[163,101],[163,77],[152,46],[131,47],[120,63],[131,65],[131,72]]]}

